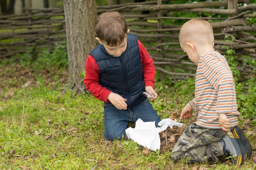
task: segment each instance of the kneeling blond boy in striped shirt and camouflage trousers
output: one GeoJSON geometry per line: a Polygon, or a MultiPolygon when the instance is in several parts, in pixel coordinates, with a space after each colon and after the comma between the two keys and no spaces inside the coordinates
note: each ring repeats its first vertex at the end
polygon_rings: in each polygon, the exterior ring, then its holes
{"type": "Polygon", "coordinates": [[[192,117],[171,153],[173,161],[218,162],[220,156],[232,156],[235,165],[252,155],[252,146],[238,128],[236,89],[233,74],[224,56],[214,51],[214,35],[206,20],[192,19],[180,29],[182,50],[198,67],[195,98],[183,109],[180,119],[192,117]],[[228,135],[230,134],[230,135],[228,135]]]}

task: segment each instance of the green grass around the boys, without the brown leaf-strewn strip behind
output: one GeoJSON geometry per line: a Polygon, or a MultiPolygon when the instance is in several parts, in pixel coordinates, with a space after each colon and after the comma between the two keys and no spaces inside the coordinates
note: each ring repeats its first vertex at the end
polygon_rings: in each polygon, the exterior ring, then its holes
{"type": "MultiPolygon", "coordinates": [[[[172,110],[171,102],[175,103],[175,98],[157,99],[153,105],[161,113],[172,110]]],[[[170,150],[144,155],[132,140],[106,141],[103,104],[90,94],[74,97],[70,92],[61,95],[40,86],[18,88],[16,95],[1,101],[0,106],[0,169],[236,169],[227,164],[214,164],[214,168],[211,164],[176,164],[170,159],[170,150]]],[[[242,167],[255,168],[250,163],[242,167]]]]}

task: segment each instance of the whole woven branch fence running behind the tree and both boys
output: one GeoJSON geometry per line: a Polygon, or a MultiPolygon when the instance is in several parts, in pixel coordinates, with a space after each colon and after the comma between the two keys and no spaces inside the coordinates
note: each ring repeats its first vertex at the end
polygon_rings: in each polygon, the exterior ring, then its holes
{"type": "MultiPolygon", "coordinates": [[[[97,6],[97,13],[119,11],[127,19],[130,33],[137,35],[153,58],[161,79],[188,79],[195,75],[196,66],[182,51],[178,42],[181,23],[191,16],[208,20],[214,31],[216,51],[226,54],[233,49],[240,71],[238,81],[256,75],[256,25],[248,20],[256,18],[256,4],[249,0],[222,0],[172,4],[173,0],[97,6]],[[236,2],[236,3],[234,3],[236,2]],[[238,5],[243,4],[243,5],[238,5]],[[143,14],[145,13],[145,14],[143,14]],[[177,13],[182,16],[177,16],[177,13]],[[207,15],[206,15],[207,14],[207,15]],[[180,23],[180,24],[175,24],[180,23]],[[231,40],[225,39],[225,37],[231,40]]],[[[54,44],[65,44],[63,9],[30,9],[23,15],[0,16],[0,59],[25,53],[33,46],[36,51],[54,44]],[[7,30],[7,31],[6,31],[7,30]],[[10,32],[10,30],[12,30],[10,32]],[[6,32],[5,32],[6,31],[6,32]],[[4,40],[13,39],[13,43],[4,40]]]]}

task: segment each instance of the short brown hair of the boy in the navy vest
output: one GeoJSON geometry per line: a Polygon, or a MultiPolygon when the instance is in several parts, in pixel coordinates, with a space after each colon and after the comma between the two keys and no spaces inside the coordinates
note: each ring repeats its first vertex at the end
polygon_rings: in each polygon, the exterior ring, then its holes
{"type": "Polygon", "coordinates": [[[95,24],[96,36],[109,46],[118,46],[124,41],[128,27],[119,12],[105,12],[99,15],[95,24]]]}

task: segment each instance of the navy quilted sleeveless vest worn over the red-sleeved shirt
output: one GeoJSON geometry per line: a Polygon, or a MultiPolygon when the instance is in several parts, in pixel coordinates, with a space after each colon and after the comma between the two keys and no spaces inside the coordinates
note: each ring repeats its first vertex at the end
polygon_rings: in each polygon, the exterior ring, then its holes
{"type": "Polygon", "coordinates": [[[99,84],[127,99],[128,107],[145,101],[142,63],[135,35],[127,35],[127,48],[120,57],[114,57],[99,44],[91,53],[101,73],[99,84]]]}

